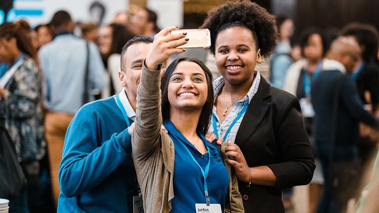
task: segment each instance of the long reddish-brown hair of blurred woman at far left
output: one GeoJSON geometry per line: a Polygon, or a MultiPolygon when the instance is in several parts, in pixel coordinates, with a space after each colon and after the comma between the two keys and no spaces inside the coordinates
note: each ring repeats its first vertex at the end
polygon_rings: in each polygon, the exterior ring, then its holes
{"type": "Polygon", "coordinates": [[[4,22],[0,25],[0,38],[9,40],[15,38],[17,41],[17,48],[29,55],[35,60],[37,64],[37,48],[32,44],[32,39],[30,36],[31,28],[28,22],[24,20],[19,20],[17,22],[4,22]]]}

